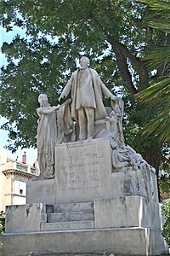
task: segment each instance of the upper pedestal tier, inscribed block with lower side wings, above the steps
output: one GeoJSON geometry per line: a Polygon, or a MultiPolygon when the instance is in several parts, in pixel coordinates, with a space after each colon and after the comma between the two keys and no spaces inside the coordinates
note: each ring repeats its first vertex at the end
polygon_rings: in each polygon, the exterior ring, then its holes
{"type": "Polygon", "coordinates": [[[114,172],[110,139],[55,147],[55,178],[27,183],[27,203],[64,204],[139,195],[158,202],[155,172],[114,172]]]}

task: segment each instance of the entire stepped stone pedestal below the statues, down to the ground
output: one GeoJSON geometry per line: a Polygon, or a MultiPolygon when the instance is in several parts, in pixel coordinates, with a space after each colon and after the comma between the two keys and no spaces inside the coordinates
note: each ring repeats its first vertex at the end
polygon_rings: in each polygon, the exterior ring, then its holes
{"type": "Polygon", "coordinates": [[[7,207],[3,255],[166,253],[154,169],[115,172],[111,150],[107,138],[56,146],[55,178],[7,207]]]}

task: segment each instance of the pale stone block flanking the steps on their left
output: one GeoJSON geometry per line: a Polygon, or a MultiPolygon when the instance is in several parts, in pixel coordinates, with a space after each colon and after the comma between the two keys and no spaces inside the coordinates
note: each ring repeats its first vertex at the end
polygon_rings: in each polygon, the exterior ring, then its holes
{"type": "Polygon", "coordinates": [[[47,213],[53,212],[53,206],[27,204],[8,206],[5,212],[5,232],[33,232],[40,230],[40,224],[47,222],[47,213]]]}

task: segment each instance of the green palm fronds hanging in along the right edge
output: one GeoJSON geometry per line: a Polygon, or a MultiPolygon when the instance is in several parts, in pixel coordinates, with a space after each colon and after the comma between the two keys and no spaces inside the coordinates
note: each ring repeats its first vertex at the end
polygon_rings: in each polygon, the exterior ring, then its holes
{"type": "Polygon", "coordinates": [[[144,134],[156,133],[162,143],[170,142],[170,3],[164,1],[142,0],[150,4],[150,9],[156,11],[150,26],[158,31],[166,32],[167,41],[147,56],[150,67],[156,68],[161,75],[156,84],[139,93],[142,102],[152,102],[158,110],[156,116],[145,126],[144,134]]]}

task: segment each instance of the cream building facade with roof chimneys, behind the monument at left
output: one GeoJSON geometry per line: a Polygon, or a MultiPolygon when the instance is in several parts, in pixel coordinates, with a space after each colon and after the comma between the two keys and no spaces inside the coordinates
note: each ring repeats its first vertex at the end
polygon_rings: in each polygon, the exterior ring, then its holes
{"type": "Polygon", "coordinates": [[[5,206],[26,204],[26,183],[39,175],[37,163],[26,164],[26,153],[22,161],[7,157],[7,150],[0,149],[0,212],[5,206]]]}

